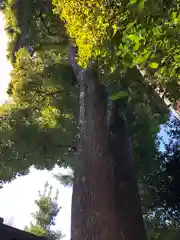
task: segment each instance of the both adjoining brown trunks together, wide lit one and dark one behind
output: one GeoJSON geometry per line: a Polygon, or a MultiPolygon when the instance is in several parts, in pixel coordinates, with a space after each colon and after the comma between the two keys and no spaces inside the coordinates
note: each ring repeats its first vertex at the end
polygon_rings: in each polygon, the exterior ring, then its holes
{"type": "Polygon", "coordinates": [[[146,240],[126,121],[117,101],[107,119],[107,94],[96,71],[81,69],[75,56],[72,47],[70,62],[80,87],[72,240],[146,240]]]}

